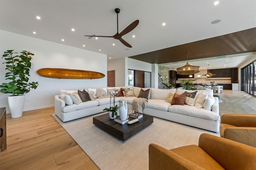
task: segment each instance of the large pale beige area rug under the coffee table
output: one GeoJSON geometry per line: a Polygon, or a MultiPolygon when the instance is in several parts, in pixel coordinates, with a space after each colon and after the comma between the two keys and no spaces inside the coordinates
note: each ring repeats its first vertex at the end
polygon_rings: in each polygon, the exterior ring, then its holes
{"type": "Polygon", "coordinates": [[[92,123],[92,117],[63,123],[62,125],[78,145],[101,170],[147,170],[148,145],[155,143],[167,149],[198,144],[200,134],[218,133],[194,128],[154,117],[154,123],[126,141],[119,140],[92,123]]]}

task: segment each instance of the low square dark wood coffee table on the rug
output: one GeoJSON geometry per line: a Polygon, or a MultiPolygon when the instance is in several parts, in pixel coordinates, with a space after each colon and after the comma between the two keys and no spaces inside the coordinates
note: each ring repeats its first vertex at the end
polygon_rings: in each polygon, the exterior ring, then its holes
{"type": "MultiPolygon", "coordinates": [[[[134,118],[129,117],[129,120],[132,119],[134,118]]],[[[140,118],[138,122],[131,125],[128,125],[127,123],[124,125],[116,123],[114,119],[112,120],[109,118],[108,113],[93,117],[92,120],[94,125],[105,130],[106,132],[112,134],[113,136],[122,141],[130,138],[132,135],[140,132],[140,130],[148,127],[151,123],[153,123],[153,117],[145,114],[143,114],[143,117],[140,118]]]]}

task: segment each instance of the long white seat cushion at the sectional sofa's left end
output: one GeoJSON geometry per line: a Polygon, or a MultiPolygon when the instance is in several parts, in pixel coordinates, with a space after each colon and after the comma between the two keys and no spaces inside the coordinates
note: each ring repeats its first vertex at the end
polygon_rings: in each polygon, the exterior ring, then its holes
{"type": "Polygon", "coordinates": [[[62,107],[61,111],[63,113],[68,113],[68,112],[77,111],[81,109],[87,109],[90,107],[96,107],[98,105],[99,103],[97,101],[86,101],[86,102],[79,103],[78,105],[75,105],[75,104],[67,105],[65,107],[62,107]]]}

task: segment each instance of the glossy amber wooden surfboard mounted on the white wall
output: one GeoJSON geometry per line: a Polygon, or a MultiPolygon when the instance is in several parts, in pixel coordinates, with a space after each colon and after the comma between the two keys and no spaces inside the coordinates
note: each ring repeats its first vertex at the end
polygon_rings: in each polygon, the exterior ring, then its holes
{"type": "Polygon", "coordinates": [[[39,69],[37,73],[55,79],[100,79],[105,77],[104,74],[96,71],[75,69],[43,68],[39,69]]]}

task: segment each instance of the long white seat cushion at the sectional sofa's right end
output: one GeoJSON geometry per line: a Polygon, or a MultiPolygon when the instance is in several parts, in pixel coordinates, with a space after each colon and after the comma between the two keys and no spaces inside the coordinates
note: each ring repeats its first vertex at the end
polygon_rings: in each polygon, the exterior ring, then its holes
{"type": "Polygon", "coordinates": [[[190,105],[171,105],[170,107],[168,107],[168,111],[172,113],[179,113],[182,115],[208,119],[211,121],[220,120],[220,116],[218,113],[205,110],[204,108],[198,109],[190,105]]]}

